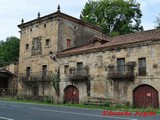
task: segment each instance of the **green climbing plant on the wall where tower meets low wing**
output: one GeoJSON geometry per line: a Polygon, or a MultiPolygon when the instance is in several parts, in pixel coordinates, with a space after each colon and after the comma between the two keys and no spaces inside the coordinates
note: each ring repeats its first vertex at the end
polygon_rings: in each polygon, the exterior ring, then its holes
{"type": "Polygon", "coordinates": [[[57,96],[59,96],[59,92],[60,92],[60,73],[59,73],[59,70],[57,73],[55,73],[53,75],[52,85],[56,91],[57,96]]]}

